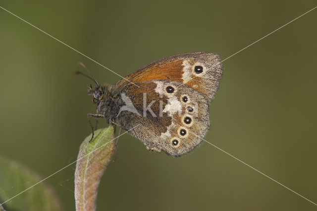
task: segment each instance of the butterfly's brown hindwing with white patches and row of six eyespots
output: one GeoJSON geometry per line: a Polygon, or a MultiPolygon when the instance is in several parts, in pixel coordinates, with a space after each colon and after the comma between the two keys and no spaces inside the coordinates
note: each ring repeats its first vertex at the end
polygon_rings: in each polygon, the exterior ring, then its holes
{"type": "Polygon", "coordinates": [[[141,123],[129,133],[148,149],[173,156],[186,154],[201,143],[210,127],[208,99],[201,92],[170,79],[136,84],[139,87],[129,85],[124,90],[135,110],[119,114],[123,129],[141,123]]]}

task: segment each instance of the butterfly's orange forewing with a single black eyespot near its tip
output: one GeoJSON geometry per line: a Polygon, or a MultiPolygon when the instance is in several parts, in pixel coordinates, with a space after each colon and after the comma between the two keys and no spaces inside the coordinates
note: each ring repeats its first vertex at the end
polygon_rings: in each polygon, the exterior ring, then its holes
{"type": "MultiPolygon", "coordinates": [[[[194,52],[158,60],[125,78],[133,83],[157,79],[178,81],[203,93],[208,103],[211,103],[221,76],[222,64],[218,55],[194,52]]],[[[123,79],[118,83],[128,83],[128,81],[123,79]]]]}

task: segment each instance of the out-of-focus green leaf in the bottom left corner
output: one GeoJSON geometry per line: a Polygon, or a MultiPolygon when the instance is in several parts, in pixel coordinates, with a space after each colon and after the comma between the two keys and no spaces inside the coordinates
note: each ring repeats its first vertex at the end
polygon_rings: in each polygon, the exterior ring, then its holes
{"type": "MultiPolygon", "coordinates": [[[[27,167],[0,157],[0,204],[39,181],[41,177],[27,167]]],[[[2,206],[6,211],[61,211],[53,189],[43,182],[2,206]]]]}

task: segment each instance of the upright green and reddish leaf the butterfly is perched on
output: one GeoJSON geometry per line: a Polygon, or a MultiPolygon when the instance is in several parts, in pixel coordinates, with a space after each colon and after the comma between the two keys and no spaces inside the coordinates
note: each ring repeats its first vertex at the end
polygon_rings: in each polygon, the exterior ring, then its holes
{"type": "Polygon", "coordinates": [[[81,144],[75,171],[76,211],[95,211],[100,179],[115,150],[113,127],[95,131],[81,144]]]}

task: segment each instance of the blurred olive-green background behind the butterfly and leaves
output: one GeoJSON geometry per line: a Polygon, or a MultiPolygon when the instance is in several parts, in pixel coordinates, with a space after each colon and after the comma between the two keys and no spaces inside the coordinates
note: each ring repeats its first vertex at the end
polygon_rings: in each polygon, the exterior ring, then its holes
{"type": "MultiPolygon", "coordinates": [[[[0,5],[120,75],[180,53],[229,57],[315,0],[4,1],[0,5]]],[[[206,140],[317,203],[317,10],[223,63],[206,140]]],[[[77,157],[91,81],[120,77],[0,9],[0,154],[43,177],[77,157]],[[83,70],[84,71],[84,70],[83,70]]],[[[105,127],[104,121],[100,127],[105,127]]],[[[46,182],[74,211],[75,165],[46,182]]],[[[5,181],[0,181],[5,182],[5,181]]],[[[14,188],[14,187],[13,187],[14,188]]],[[[97,210],[310,211],[317,207],[204,142],[173,158],[120,138],[97,210]]]]}

